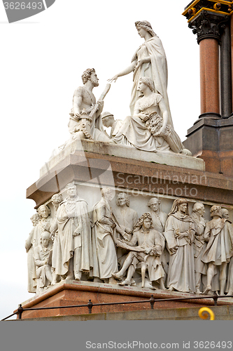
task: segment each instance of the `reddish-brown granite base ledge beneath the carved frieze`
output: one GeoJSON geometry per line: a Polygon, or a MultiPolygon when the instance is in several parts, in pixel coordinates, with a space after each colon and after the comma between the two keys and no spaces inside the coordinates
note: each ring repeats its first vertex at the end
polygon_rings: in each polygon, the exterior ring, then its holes
{"type": "MultiPolygon", "coordinates": [[[[197,299],[185,301],[163,301],[167,298],[192,298],[195,294],[179,293],[151,289],[139,289],[134,286],[115,286],[111,284],[101,284],[94,282],[76,282],[66,280],[50,287],[40,295],[22,303],[24,308],[36,307],[62,307],[68,305],[85,305],[85,307],[57,308],[52,310],[31,310],[22,313],[22,319],[67,316],[74,314],[88,314],[87,303],[122,303],[120,305],[93,306],[93,313],[124,312],[137,310],[150,310],[149,299],[151,295],[155,299],[160,299],[155,303],[155,309],[161,308],[182,308],[182,307],[202,307],[213,305],[212,299],[197,299]],[[148,303],[124,304],[129,301],[148,300],[148,303]]],[[[196,296],[197,297],[197,296],[196,296]]],[[[232,305],[233,299],[222,298],[218,300],[219,305],[232,305]]]]}

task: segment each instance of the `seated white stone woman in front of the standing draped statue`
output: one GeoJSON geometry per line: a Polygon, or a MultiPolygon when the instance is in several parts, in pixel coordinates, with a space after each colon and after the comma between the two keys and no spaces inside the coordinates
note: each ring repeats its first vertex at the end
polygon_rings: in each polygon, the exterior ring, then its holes
{"type": "Polygon", "coordinates": [[[172,151],[190,154],[184,149],[174,128],[168,124],[164,99],[162,95],[154,92],[153,81],[148,77],[141,77],[139,91],[143,93],[143,97],[136,101],[134,115],[126,117],[112,139],[113,142],[148,152],[172,151]]]}

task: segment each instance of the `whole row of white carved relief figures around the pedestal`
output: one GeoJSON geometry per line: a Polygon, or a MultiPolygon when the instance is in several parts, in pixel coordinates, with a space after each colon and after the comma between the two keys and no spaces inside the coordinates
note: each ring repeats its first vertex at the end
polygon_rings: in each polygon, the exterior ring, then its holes
{"type": "Polygon", "coordinates": [[[232,294],[233,226],[226,208],[188,204],[186,199],[168,204],[168,199],[149,194],[142,205],[142,199],[109,188],[90,205],[73,183],[64,192],[64,200],[52,197],[39,208],[36,240],[29,240],[34,253],[34,260],[28,261],[34,282],[30,292],[76,279],[115,287],[232,294]],[[227,241],[219,260],[215,242],[222,237],[227,241]]]}

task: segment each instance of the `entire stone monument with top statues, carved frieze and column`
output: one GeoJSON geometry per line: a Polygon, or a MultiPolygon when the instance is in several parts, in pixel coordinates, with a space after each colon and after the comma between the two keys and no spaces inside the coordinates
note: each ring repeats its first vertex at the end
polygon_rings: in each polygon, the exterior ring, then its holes
{"type": "MultiPolygon", "coordinates": [[[[27,189],[39,218],[26,244],[29,291],[36,296],[24,307],[82,304],[89,298],[93,303],[126,302],[152,292],[162,300],[216,291],[225,301],[232,293],[232,140],[227,150],[224,146],[232,133],[232,107],[223,96],[232,81],[220,64],[219,95],[217,55],[206,56],[216,53],[222,41],[220,57],[225,60],[232,12],[220,14],[218,6],[202,11],[202,3],[190,3],[184,15],[198,34],[202,65],[215,69],[210,75],[214,96],[209,71],[208,77],[201,71],[202,114],[184,143],[171,118],[167,58],[148,21],[135,23],[143,44],[131,65],[110,79],[132,73],[131,116],[122,112],[119,122],[103,112],[111,84],[96,101],[97,74],[93,68],[83,72],[69,115],[70,138],[27,189]],[[110,135],[104,126],[111,126],[110,135]]],[[[213,4],[206,0],[207,5],[213,4]]],[[[50,315],[71,313],[52,311],[50,315]]]]}

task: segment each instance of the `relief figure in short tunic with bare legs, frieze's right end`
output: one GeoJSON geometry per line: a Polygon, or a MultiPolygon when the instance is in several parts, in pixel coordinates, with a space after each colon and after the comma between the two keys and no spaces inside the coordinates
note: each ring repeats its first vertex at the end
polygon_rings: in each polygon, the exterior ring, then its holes
{"type": "Polygon", "coordinates": [[[206,224],[204,239],[208,242],[202,261],[208,263],[207,286],[204,293],[211,291],[213,276],[219,267],[220,295],[225,293],[227,279],[227,263],[233,256],[233,227],[222,218],[222,209],[218,205],[211,207],[212,220],[206,224]]]}

